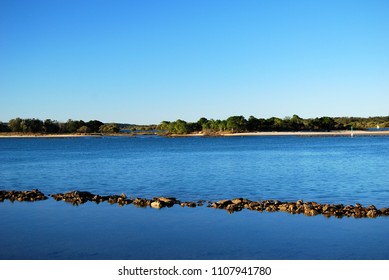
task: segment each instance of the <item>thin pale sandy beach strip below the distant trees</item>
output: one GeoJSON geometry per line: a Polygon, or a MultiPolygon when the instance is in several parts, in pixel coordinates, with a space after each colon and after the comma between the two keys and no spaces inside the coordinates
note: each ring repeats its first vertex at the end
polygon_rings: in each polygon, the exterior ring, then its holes
{"type": "MultiPolygon", "coordinates": [[[[77,138],[77,137],[134,137],[143,134],[29,134],[29,133],[0,133],[0,138],[77,138]]],[[[148,134],[157,135],[157,134],[148,134]]],[[[164,136],[164,135],[162,135],[164,136]]],[[[168,137],[237,137],[237,136],[301,136],[301,137],[325,137],[325,136],[389,136],[389,130],[334,130],[334,131],[269,131],[269,132],[242,132],[242,133],[192,133],[192,134],[173,134],[168,137]]]]}

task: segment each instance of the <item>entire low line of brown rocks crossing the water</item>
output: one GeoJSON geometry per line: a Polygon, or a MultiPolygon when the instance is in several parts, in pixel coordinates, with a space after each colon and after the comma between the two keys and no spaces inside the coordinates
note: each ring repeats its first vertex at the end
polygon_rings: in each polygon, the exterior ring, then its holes
{"type": "MultiPolygon", "coordinates": [[[[374,205],[364,207],[357,203],[355,205],[343,204],[320,204],[316,202],[304,202],[298,200],[296,202],[283,202],[279,200],[262,200],[252,201],[245,198],[225,199],[216,202],[210,201],[180,201],[174,197],[154,197],[147,198],[128,198],[124,193],[121,195],[101,196],[87,191],[71,191],[67,193],[57,193],[49,195],[56,201],[65,201],[72,205],[80,205],[86,202],[108,202],[110,204],[118,204],[124,206],[133,204],[136,207],[151,207],[151,208],[170,208],[174,205],[181,207],[197,207],[203,206],[215,209],[224,209],[229,213],[242,211],[243,209],[258,212],[287,212],[290,214],[303,214],[306,216],[324,215],[326,217],[354,217],[354,218],[376,218],[380,216],[389,216],[389,208],[377,209],[374,205]]],[[[37,201],[45,200],[47,197],[39,190],[32,191],[3,191],[0,190],[0,202],[4,200],[10,201],[37,201]]]]}

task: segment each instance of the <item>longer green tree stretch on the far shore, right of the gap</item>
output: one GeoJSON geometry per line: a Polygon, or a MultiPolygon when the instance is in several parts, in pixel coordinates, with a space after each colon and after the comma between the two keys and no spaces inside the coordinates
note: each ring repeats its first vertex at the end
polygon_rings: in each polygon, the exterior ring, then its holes
{"type": "Polygon", "coordinates": [[[190,134],[202,132],[205,134],[217,134],[223,132],[259,132],[259,131],[330,131],[367,129],[379,126],[389,127],[388,117],[318,117],[303,119],[298,115],[285,117],[284,119],[272,117],[268,119],[250,116],[246,119],[243,116],[231,116],[226,120],[213,120],[200,118],[197,122],[186,122],[176,120],[173,122],[163,121],[158,129],[167,134],[190,134]]]}

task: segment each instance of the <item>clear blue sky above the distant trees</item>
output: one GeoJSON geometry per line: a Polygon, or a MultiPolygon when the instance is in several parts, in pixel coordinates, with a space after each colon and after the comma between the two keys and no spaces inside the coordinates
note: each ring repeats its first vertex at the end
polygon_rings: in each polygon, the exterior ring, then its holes
{"type": "Polygon", "coordinates": [[[389,1],[0,0],[0,121],[389,115],[389,1]]]}

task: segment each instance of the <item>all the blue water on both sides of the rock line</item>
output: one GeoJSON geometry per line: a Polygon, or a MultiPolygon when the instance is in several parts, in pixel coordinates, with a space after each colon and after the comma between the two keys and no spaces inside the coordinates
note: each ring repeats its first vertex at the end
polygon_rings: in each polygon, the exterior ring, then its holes
{"type": "MultiPolygon", "coordinates": [[[[0,139],[0,189],[388,207],[388,151],[389,137],[0,139]]],[[[0,203],[0,259],[389,259],[388,236],[385,217],[0,203]]]]}

